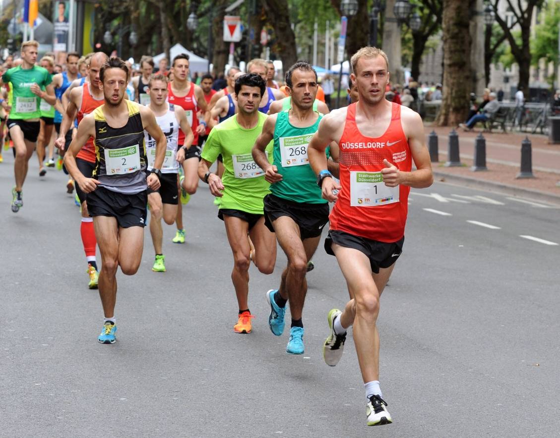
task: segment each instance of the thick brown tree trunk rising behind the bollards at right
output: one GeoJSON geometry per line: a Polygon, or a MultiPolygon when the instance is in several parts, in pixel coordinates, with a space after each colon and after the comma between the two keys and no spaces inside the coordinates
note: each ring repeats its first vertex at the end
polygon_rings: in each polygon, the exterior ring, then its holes
{"type": "Polygon", "coordinates": [[[444,0],[442,20],[444,34],[444,89],[439,126],[456,126],[469,110],[470,34],[469,3],[444,0]]]}

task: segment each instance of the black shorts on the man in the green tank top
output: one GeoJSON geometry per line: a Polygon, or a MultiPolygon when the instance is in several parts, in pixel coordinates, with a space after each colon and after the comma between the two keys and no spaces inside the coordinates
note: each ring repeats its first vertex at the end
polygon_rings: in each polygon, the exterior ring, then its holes
{"type": "Polygon", "coordinates": [[[269,194],[264,197],[264,224],[274,233],[272,223],[280,216],[288,216],[300,227],[301,239],[317,237],[329,222],[329,204],[293,202],[269,194]]]}

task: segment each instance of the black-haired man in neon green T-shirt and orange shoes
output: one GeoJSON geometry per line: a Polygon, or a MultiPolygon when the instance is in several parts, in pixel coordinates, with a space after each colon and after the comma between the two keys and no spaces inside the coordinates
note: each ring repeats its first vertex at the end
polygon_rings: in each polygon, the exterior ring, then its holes
{"type": "MultiPolygon", "coordinates": [[[[269,183],[264,179],[263,169],[256,166],[251,156],[251,149],[267,119],[258,111],[264,90],[264,79],[258,74],[237,78],[238,112],[210,131],[198,166],[200,179],[208,183],[212,195],[222,198],[218,217],[226,226],[234,254],[231,279],[239,304],[236,333],[250,333],[253,317],[248,304],[251,249],[247,235],[254,243],[253,261],[260,272],[272,274],[276,262],[276,237],[264,225],[263,198],[270,192],[269,183]],[[218,154],[223,156],[223,179],[208,170],[218,154]]],[[[266,150],[272,151],[272,142],[266,150]]]]}

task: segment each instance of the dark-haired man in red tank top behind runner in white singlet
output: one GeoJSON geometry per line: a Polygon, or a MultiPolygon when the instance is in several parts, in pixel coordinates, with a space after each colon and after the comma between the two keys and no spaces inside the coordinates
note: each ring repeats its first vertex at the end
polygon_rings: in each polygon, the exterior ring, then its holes
{"type": "MultiPolygon", "coordinates": [[[[173,80],[167,85],[167,102],[178,105],[185,110],[186,120],[189,121],[190,128],[193,130],[193,144],[184,144],[185,134],[179,131],[179,154],[183,153],[183,145],[186,148],[185,161],[181,163],[185,177],[178,187],[179,195],[181,189],[188,195],[193,195],[198,188],[198,162],[200,161],[200,148],[198,147],[198,135],[204,135],[206,122],[198,123],[197,111],[207,111],[208,105],[204,99],[204,92],[194,82],[189,79],[189,55],[181,53],[173,58],[171,64],[173,80]]],[[[183,208],[181,202],[177,207],[176,218],[177,232],[172,242],[185,243],[185,229],[183,227],[183,208]]]]}

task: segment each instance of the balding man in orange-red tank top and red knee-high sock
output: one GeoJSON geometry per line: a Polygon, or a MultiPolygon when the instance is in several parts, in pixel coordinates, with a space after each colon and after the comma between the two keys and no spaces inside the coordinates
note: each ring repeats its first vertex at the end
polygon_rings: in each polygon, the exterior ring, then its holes
{"type": "MultiPolygon", "coordinates": [[[[87,74],[89,82],[86,82],[80,87],[72,88],[69,96],[68,106],[66,112],[63,113],[62,123],[60,123],[60,133],[55,145],[60,150],[63,150],[66,144],[66,133],[72,129],[74,125],[74,118],[78,117],[78,124],[81,123],[84,116],[94,112],[94,110],[105,103],[103,97],[103,90],[101,90],[101,81],[99,79],[99,72],[101,66],[108,60],[105,53],[97,52],[91,56],[87,65],[87,74]]],[[[91,178],[95,169],[95,147],[94,139],[87,140],[85,146],[78,152],[76,156],[76,164],[80,172],[87,178],[91,178]]],[[[76,194],[80,199],[82,207],[82,224],[80,227],[80,234],[82,236],[83,250],[86,253],[87,260],[87,274],[90,276],[90,289],[97,289],[97,260],[95,256],[95,247],[97,244],[94,231],[94,220],[90,218],[87,211],[86,194],[76,184],[76,194]]]]}

